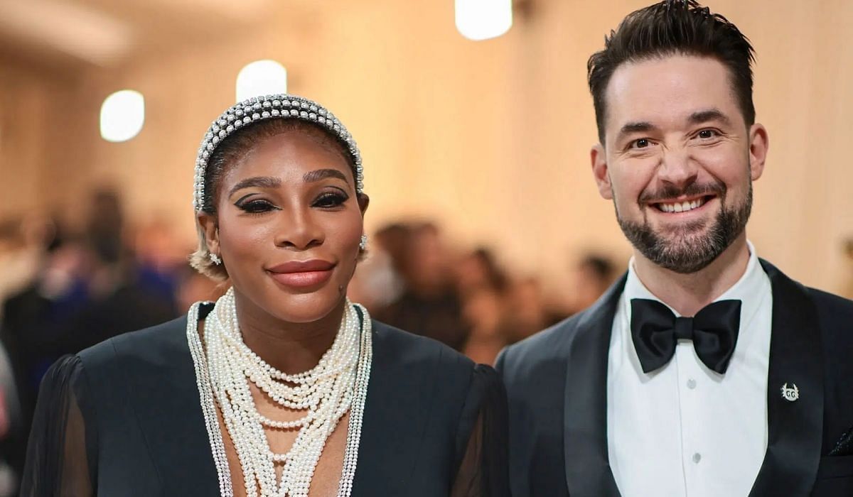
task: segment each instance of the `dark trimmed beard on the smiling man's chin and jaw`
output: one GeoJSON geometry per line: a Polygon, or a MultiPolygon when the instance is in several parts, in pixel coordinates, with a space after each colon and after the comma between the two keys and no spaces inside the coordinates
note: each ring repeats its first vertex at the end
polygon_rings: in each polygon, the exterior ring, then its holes
{"type": "MultiPolygon", "coordinates": [[[[741,205],[733,205],[731,209],[724,206],[725,190],[721,193],[717,198],[723,207],[707,234],[694,234],[702,228],[703,222],[685,225],[667,237],[655,233],[648,222],[624,220],[619,216],[618,209],[616,218],[622,233],[643,256],[662,268],[687,275],[712,263],[746,229],[752,211],[752,183],[746,200],[741,205]]],[[[668,196],[672,198],[676,195],[668,196]]],[[[648,208],[654,209],[651,206],[648,208]]]]}

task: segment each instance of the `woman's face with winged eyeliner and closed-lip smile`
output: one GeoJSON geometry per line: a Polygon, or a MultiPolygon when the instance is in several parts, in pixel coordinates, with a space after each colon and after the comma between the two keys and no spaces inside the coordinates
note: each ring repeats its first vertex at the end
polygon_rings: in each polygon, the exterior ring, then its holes
{"type": "Polygon", "coordinates": [[[277,321],[329,315],[356,268],[367,198],[360,205],[350,165],[321,135],[296,129],[258,141],[223,176],[215,222],[200,218],[238,306],[277,321]]]}

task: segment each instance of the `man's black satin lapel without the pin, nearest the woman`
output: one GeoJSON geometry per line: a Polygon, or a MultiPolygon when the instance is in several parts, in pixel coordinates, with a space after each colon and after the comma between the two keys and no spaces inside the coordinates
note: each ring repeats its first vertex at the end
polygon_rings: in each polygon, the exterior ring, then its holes
{"type": "Polygon", "coordinates": [[[563,443],[572,497],[619,495],[607,456],[607,351],[625,280],[586,311],[568,346],[563,443]]]}

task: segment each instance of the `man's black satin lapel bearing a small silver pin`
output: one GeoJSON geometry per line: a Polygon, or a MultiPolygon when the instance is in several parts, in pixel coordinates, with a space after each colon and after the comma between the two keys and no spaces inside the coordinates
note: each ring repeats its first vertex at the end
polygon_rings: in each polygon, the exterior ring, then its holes
{"type": "Polygon", "coordinates": [[[761,263],[773,288],[768,447],[750,495],[808,495],[815,483],[823,439],[821,330],[805,288],[772,264],[761,263]],[[783,396],[784,385],[791,389],[790,400],[783,396]]]}

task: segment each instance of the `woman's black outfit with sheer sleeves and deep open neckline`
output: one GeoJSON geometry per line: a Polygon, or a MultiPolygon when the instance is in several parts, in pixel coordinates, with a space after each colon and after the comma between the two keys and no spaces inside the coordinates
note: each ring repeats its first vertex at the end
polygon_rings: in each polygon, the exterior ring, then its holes
{"type": "MultiPolygon", "coordinates": [[[[186,327],[120,335],[50,368],[21,495],[219,494],[186,327]]],[[[377,321],[373,348],[352,496],[508,495],[494,370],[377,321]]]]}

